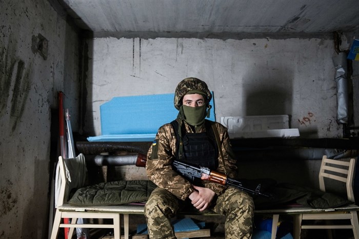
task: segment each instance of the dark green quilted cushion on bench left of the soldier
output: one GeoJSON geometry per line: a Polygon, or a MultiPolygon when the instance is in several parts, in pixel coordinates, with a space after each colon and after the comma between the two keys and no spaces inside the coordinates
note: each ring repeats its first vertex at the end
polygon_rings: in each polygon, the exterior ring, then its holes
{"type": "Polygon", "coordinates": [[[156,185],[148,180],[114,181],[76,190],[69,200],[72,206],[110,206],[148,200],[156,185]]]}

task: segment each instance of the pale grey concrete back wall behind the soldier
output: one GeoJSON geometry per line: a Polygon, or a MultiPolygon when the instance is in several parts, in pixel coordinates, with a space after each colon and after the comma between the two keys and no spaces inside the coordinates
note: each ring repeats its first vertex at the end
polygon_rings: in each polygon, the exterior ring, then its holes
{"type": "Polygon", "coordinates": [[[101,135],[99,106],[114,96],[173,93],[185,77],[214,91],[221,116],[290,115],[304,137],[342,137],[331,37],[94,38],[84,130],[101,135]]]}

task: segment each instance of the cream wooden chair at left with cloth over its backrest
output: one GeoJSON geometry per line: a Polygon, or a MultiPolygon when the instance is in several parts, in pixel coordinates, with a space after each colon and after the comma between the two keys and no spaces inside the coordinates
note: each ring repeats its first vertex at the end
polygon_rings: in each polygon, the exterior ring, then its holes
{"type": "MultiPolygon", "coordinates": [[[[85,210],[84,207],[69,207],[67,205],[68,196],[70,189],[70,184],[75,182],[69,181],[69,173],[71,174],[71,170],[68,170],[66,174],[66,162],[77,161],[84,162],[84,167],[86,168],[85,158],[83,154],[79,154],[76,158],[69,158],[64,160],[62,156],[58,157],[58,164],[60,167],[60,174],[62,178],[62,184],[60,188],[60,194],[58,197],[58,203],[56,207],[56,213],[54,218],[54,223],[52,227],[51,239],[55,239],[57,237],[58,231],[60,228],[70,228],[69,237],[71,238],[74,228],[113,228],[114,230],[114,238],[121,238],[121,227],[120,227],[120,214],[118,212],[106,212],[101,211],[101,209],[94,208],[95,212],[91,212],[89,210],[85,210]],[[71,224],[61,223],[63,218],[71,218],[71,224]],[[111,224],[76,224],[77,218],[110,218],[112,219],[111,224]]],[[[78,174],[78,172],[75,172],[78,174]]],[[[74,173],[72,173],[73,178],[76,177],[74,173]]],[[[73,181],[73,180],[72,180],[73,181]]],[[[83,186],[83,185],[81,185],[83,186]]],[[[110,220],[109,220],[110,221],[110,220]]]]}

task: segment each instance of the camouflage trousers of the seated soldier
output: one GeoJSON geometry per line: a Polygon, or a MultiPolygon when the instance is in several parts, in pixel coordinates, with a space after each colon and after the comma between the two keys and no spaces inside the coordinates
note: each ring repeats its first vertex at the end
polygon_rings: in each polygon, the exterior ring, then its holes
{"type": "MultiPolygon", "coordinates": [[[[176,238],[170,218],[175,216],[184,204],[183,201],[166,189],[156,188],[151,193],[145,206],[150,239],[176,238]]],[[[190,204],[190,207],[193,206],[190,204]]],[[[209,209],[226,216],[225,234],[227,239],[251,238],[254,203],[252,197],[247,193],[237,188],[229,187],[222,195],[217,197],[209,209]]]]}

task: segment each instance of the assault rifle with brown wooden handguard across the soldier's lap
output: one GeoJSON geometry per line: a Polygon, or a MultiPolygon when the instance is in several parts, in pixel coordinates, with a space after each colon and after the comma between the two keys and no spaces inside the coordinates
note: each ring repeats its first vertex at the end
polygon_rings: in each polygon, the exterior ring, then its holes
{"type": "MultiPolygon", "coordinates": [[[[146,161],[147,161],[147,158],[145,155],[144,156],[138,155],[136,166],[137,167],[145,167],[146,161]]],[[[242,182],[237,181],[233,178],[227,177],[227,175],[224,173],[216,172],[216,171],[210,170],[209,168],[206,168],[206,167],[196,167],[196,166],[188,165],[188,164],[185,164],[185,163],[179,162],[179,161],[173,161],[172,167],[174,168],[174,170],[177,173],[181,174],[182,176],[184,176],[186,178],[191,178],[191,177],[201,178],[201,180],[203,180],[203,181],[210,181],[210,182],[222,184],[222,185],[230,185],[230,186],[239,188],[242,191],[245,191],[245,192],[248,192],[251,194],[261,195],[261,196],[265,196],[265,197],[271,197],[270,194],[261,192],[261,184],[258,184],[256,186],[256,188],[254,190],[252,190],[250,188],[244,187],[242,185],[242,182]]]]}

